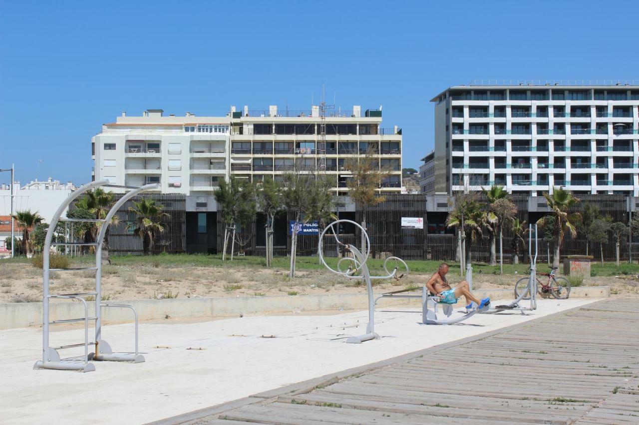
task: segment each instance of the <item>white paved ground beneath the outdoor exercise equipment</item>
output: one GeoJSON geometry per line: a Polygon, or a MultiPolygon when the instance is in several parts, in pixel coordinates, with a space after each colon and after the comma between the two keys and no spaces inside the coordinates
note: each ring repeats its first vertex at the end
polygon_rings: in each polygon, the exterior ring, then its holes
{"type": "MultiPolygon", "coordinates": [[[[96,370],[89,373],[33,370],[42,355],[42,331],[8,329],[0,331],[0,422],[141,424],[593,301],[542,299],[527,315],[475,315],[467,323],[449,326],[419,325],[419,313],[377,311],[375,331],[381,339],[360,345],[346,344],[344,338],[364,333],[364,311],[141,324],[140,349],[146,362],[95,362],[96,370]]],[[[114,350],[127,351],[133,345],[132,331],[131,324],[110,325],[103,336],[114,350]]],[[[55,332],[51,341],[77,343],[82,334],[82,329],[55,332]]],[[[73,348],[64,355],[81,351],[73,348]]]]}

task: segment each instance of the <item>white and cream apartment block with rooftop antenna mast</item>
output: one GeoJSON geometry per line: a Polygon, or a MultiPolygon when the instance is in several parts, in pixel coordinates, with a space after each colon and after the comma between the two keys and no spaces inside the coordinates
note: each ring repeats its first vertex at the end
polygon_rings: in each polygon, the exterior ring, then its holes
{"type": "Polygon", "coordinates": [[[210,195],[219,179],[231,174],[262,181],[299,170],[325,172],[339,191],[350,178],[344,161],[373,149],[379,167],[392,169],[380,191],[400,192],[401,140],[401,129],[381,127],[381,110],[362,116],[359,106],[325,117],[318,106],[242,112],[231,107],[225,117],[164,116],[161,109],[141,117],[123,112],[91,139],[93,178],[125,186],[160,183],[162,193],[210,195]]]}

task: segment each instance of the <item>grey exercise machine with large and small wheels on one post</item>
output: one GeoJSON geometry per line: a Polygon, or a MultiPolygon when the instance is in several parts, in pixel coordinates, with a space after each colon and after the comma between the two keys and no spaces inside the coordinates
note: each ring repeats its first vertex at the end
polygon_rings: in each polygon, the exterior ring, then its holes
{"type": "Polygon", "coordinates": [[[343,276],[344,278],[364,280],[366,282],[366,290],[368,293],[368,324],[366,325],[366,333],[363,335],[351,336],[350,338],[346,339],[347,343],[360,344],[364,341],[369,341],[371,339],[380,337],[378,334],[375,333],[375,300],[374,300],[374,294],[373,294],[373,284],[371,283],[371,279],[391,279],[391,278],[401,279],[404,276],[406,276],[406,274],[408,274],[408,265],[406,265],[404,260],[398,257],[388,257],[386,258],[386,260],[384,260],[384,264],[383,264],[384,271],[387,272],[387,275],[371,276],[371,274],[369,273],[368,265],[366,264],[366,261],[368,260],[368,256],[370,253],[371,253],[371,240],[369,239],[368,234],[366,233],[366,230],[364,230],[364,228],[358,225],[358,223],[356,223],[355,221],[335,220],[332,223],[330,223],[330,225],[328,225],[321,232],[321,235],[319,235],[318,255],[319,255],[319,260],[321,261],[321,263],[328,270],[334,272],[335,274],[339,274],[340,276],[343,276]],[[361,251],[358,250],[352,244],[344,244],[338,239],[334,226],[339,225],[339,223],[350,223],[352,225],[355,225],[355,227],[360,228],[360,230],[362,231],[362,234],[364,235],[364,241],[365,241],[361,251]],[[353,255],[353,257],[340,258],[337,261],[337,265],[335,266],[336,270],[332,269],[324,259],[323,241],[324,241],[324,235],[327,234],[328,229],[331,230],[333,236],[335,237],[335,241],[337,241],[337,245],[343,247],[345,250],[350,251],[351,255],[353,255]],[[392,271],[389,271],[388,267],[390,264],[392,264],[392,262],[395,262],[396,264],[394,265],[392,271]],[[347,265],[348,265],[348,268],[344,269],[347,265]],[[403,274],[400,274],[399,276],[397,276],[399,267],[404,267],[406,271],[403,274]]]}

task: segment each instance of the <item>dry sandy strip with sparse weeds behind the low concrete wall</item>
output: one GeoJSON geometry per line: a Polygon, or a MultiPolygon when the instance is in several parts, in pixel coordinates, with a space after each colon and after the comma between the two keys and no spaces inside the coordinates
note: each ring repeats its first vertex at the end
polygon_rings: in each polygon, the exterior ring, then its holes
{"type": "MultiPolygon", "coordinates": [[[[374,274],[375,271],[371,271],[374,274]]],[[[53,272],[51,292],[68,294],[90,292],[95,288],[95,272],[53,272]]],[[[408,274],[401,280],[373,281],[375,292],[388,292],[408,287],[421,287],[430,276],[408,274]]],[[[456,283],[459,275],[449,273],[449,281],[456,283]]],[[[475,274],[473,288],[512,288],[521,276],[514,274],[475,274]]],[[[612,294],[638,294],[639,281],[635,276],[594,277],[584,281],[586,286],[611,285],[612,294]]],[[[336,276],[325,270],[288,271],[259,267],[152,267],[107,265],[102,271],[104,299],[132,300],[167,297],[235,297],[260,295],[311,295],[365,292],[360,281],[336,276]]],[[[0,263],[0,302],[40,301],[42,298],[42,270],[31,264],[0,263]]]]}

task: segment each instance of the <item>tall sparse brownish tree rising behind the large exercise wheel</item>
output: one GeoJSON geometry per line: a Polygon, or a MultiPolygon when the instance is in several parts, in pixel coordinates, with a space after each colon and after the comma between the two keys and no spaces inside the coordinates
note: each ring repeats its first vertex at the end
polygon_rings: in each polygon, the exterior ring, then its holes
{"type": "MultiPolygon", "coordinates": [[[[386,200],[380,193],[380,184],[390,175],[390,170],[380,168],[379,160],[374,149],[368,149],[363,158],[348,158],[344,162],[344,169],[351,172],[353,177],[346,181],[348,195],[356,204],[362,207],[362,227],[366,230],[366,214],[370,207],[381,204],[386,200]]],[[[362,232],[362,246],[366,241],[362,232]]]]}

